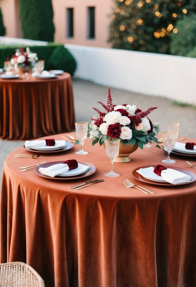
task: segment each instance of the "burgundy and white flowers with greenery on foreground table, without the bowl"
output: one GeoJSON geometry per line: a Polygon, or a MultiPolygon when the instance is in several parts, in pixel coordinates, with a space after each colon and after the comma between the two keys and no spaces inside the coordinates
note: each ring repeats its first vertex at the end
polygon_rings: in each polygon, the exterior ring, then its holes
{"type": "MultiPolygon", "coordinates": [[[[154,141],[158,143],[155,137],[159,131],[157,123],[152,124],[147,115],[157,107],[151,107],[145,111],[137,108],[136,105],[112,104],[110,88],[108,89],[107,105],[98,102],[103,106],[106,112],[101,112],[97,108],[93,109],[99,114],[91,118],[89,123],[88,136],[94,138],[92,144],[99,142],[100,146],[106,138],[118,138],[123,146],[130,144],[134,146],[137,142],[138,146],[143,149],[143,145],[154,141]]],[[[156,145],[160,148],[159,145],[156,145]]]]}

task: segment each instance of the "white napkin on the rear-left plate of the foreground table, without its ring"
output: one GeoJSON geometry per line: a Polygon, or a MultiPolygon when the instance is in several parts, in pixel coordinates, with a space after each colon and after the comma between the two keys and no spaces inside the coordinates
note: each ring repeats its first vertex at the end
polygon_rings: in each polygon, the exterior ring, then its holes
{"type": "Polygon", "coordinates": [[[65,140],[55,140],[55,145],[54,146],[47,146],[45,139],[40,139],[40,140],[35,140],[35,141],[25,141],[24,143],[25,148],[39,148],[43,150],[51,150],[51,149],[56,149],[56,148],[62,148],[66,145],[65,140]]]}

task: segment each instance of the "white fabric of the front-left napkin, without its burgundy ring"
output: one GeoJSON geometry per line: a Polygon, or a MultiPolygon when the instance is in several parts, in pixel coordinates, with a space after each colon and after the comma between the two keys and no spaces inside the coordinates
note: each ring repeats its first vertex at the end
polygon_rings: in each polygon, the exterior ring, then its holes
{"type": "Polygon", "coordinates": [[[45,174],[45,175],[47,175],[49,177],[55,177],[57,175],[73,176],[73,175],[77,175],[77,174],[83,173],[83,172],[85,172],[88,169],[89,169],[89,166],[78,163],[78,167],[77,168],[69,170],[69,166],[67,164],[59,163],[59,164],[51,165],[51,166],[46,167],[46,168],[40,167],[39,171],[42,174],[45,174]]]}

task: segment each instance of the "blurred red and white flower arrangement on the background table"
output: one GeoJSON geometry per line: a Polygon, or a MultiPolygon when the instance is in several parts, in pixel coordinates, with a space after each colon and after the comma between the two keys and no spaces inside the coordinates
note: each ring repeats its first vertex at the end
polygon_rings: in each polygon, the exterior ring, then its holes
{"type": "Polygon", "coordinates": [[[12,56],[10,64],[17,70],[19,67],[28,67],[31,69],[37,62],[38,57],[36,53],[32,53],[29,47],[26,48],[26,52],[22,47],[16,49],[16,53],[12,56]]]}

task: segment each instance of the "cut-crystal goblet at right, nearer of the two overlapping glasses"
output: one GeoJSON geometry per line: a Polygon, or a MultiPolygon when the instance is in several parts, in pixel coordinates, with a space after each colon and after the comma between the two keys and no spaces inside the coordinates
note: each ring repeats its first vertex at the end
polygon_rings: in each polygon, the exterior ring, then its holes
{"type": "Polygon", "coordinates": [[[172,148],[174,148],[176,144],[176,133],[174,131],[164,131],[163,132],[163,145],[164,148],[168,152],[168,157],[166,160],[162,160],[164,163],[175,163],[175,160],[170,159],[170,152],[172,151],[172,148]]]}

